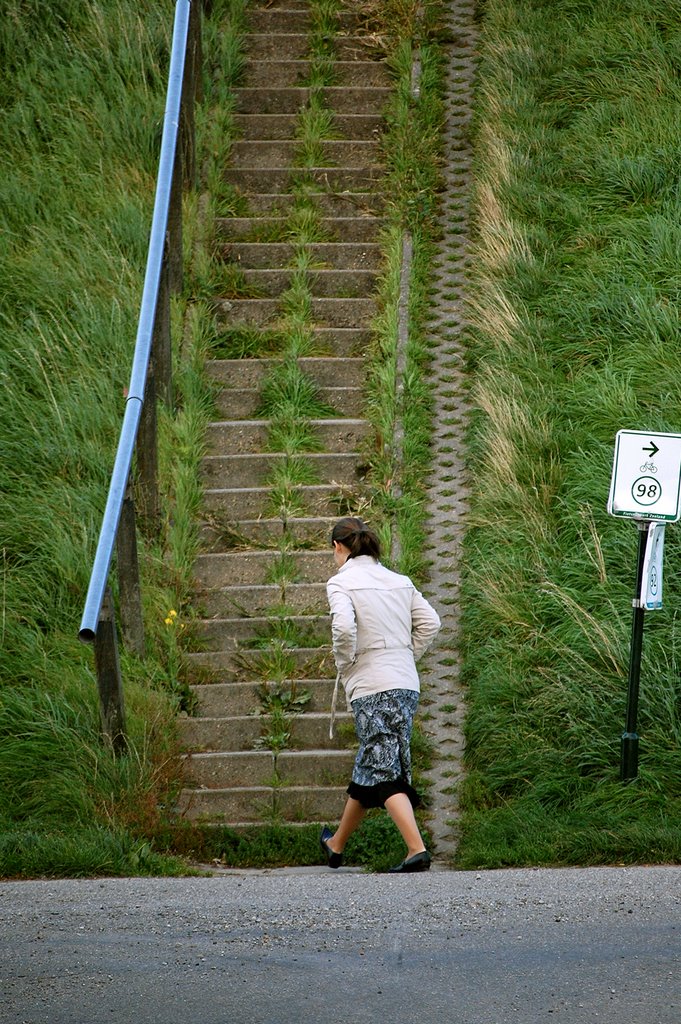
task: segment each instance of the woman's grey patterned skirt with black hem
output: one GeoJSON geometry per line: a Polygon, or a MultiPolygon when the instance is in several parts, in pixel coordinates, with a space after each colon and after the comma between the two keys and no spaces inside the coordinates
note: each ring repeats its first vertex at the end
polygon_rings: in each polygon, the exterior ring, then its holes
{"type": "Polygon", "coordinates": [[[410,751],[418,706],[416,690],[384,690],[352,701],[359,750],[347,792],[363,807],[383,807],[395,793],[406,793],[418,807],[410,751]]]}

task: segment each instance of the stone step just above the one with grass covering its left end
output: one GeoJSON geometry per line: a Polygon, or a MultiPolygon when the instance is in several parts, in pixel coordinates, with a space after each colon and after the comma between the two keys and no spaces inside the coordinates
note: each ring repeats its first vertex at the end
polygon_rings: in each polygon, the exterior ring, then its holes
{"type": "MultiPolygon", "coordinates": [[[[283,317],[281,304],[276,299],[216,299],[214,306],[219,323],[225,327],[275,327],[283,317]]],[[[310,300],[312,324],[317,328],[353,328],[366,331],[377,311],[376,299],[310,300]]],[[[320,338],[321,342],[324,340],[320,338]]]]}

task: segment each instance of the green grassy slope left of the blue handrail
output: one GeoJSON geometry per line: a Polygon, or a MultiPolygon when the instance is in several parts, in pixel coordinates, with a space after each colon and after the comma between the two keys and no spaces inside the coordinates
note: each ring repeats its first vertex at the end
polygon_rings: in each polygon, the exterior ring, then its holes
{"type": "Polygon", "coordinates": [[[0,26],[4,873],[172,869],[135,838],[172,756],[162,539],[144,554],[155,653],[143,670],[124,657],[132,749],[118,763],[76,640],[130,370],[171,28],[166,6],[128,0],[10,3],[0,26]]]}

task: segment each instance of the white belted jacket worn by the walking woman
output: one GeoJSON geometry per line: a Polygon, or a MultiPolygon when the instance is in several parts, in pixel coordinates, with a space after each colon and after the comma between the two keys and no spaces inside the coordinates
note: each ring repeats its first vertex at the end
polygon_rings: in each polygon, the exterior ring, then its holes
{"type": "Polygon", "coordinates": [[[419,690],[416,659],[439,616],[409,577],[370,555],[348,558],[327,584],[338,677],[348,703],[383,690],[419,690]]]}

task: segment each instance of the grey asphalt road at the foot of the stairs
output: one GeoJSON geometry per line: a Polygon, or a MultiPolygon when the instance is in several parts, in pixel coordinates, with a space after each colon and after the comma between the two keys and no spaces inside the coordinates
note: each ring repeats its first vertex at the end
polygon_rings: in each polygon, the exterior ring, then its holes
{"type": "Polygon", "coordinates": [[[681,867],[0,884],[6,1024],[681,1024],[681,867]]]}

